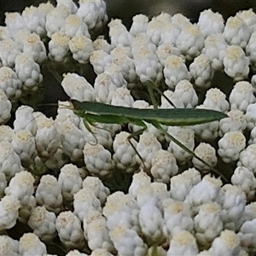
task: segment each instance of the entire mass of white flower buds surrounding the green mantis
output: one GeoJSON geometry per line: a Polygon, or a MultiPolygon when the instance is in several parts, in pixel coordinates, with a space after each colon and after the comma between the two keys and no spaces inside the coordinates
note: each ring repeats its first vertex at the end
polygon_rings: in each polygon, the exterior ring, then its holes
{"type": "Polygon", "coordinates": [[[67,256],[255,255],[256,14],[107,23],[103,0],[60,0],[7,13],[0,27],[0,255],[54,255],[53,241],[67,256]],[[153,108],[154,84],[177,108],[227,117],[163,125],[194,155],[150,124],[129,143],[137,123],[90,125],[69,102],[55,119],[20,106],[44,86],[43,68],[80,102],[153,108]],[[231,89],[212,87],[219,73],[231,89]]]}

